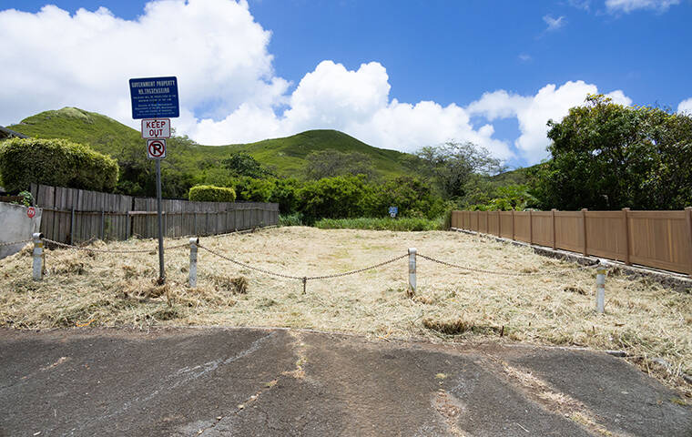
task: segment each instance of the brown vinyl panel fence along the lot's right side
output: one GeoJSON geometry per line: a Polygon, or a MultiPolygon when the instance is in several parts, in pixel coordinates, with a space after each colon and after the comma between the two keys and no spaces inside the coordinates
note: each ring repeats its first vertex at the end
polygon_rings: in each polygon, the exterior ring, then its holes
{"type": "Polygon", "coordinates": [[[452,228],[692,276],[692,208],[453,211],[452,228]]]}

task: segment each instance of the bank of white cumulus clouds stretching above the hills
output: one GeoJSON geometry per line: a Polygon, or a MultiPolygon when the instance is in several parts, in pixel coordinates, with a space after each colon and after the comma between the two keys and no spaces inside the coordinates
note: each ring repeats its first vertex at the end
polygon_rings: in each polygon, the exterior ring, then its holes
{"type": "MultiPolygon", "coordinates": [[[[564,24],[562,17],[551,19],[554,26],[564,24]]],[[[173,125],[201,144],[327,128],[402,151],[472,141],[497,158],[518,154],[533,164],[545,158],[545,122],[597,92],[595,85],[576,81],[544,86],[533,96],[485,93],[468,106],[401,102],[391,95],[390,76],[379,62],[350,70],[331,60],[291,88],[274,71],[270,37],[246,0],[157,0],[133,20],[105,8],[74,15],[52,5],[36,14],[0,11],[0,124],[74,106],[137,128],[128,79],[178,76],[180,117],[173,125]],[[512,117],[521,134],[514,144],[494,137],[493,126],[512,117]]],[[[621,91],[611,95],[629,103],[621,91]]]]}

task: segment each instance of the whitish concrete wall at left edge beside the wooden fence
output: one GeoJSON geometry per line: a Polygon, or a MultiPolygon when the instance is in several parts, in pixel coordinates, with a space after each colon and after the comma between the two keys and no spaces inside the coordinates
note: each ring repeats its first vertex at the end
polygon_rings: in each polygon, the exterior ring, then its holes
{"type": "MultiPolygon", "coordinates": [[[[41,226],[41,208],[36,208],[34,219],[29,219],[26,215],[27,209],[22,205],[0,202],[0,243],[31,239],[31,235],[38,232],[41,226]]],[[[0,259],[18,252],[26,244],[32,243],[0,246],[0,259]]]]}

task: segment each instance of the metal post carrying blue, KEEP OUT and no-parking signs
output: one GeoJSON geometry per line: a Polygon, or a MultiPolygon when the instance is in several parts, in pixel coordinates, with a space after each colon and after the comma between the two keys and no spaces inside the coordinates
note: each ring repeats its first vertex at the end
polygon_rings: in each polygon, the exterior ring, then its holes
{"type": "Polygon", "coordinates": [[[161,159],[166,158],[170,119],[179,117],[178,78],[143,77],[129,80],[132,118],[142,119],[142,138],[147,139],[147,158],[156,160],[158,209],[158,284],[166,282],[163,262],[163,212],[161,210],[161,159]]]}

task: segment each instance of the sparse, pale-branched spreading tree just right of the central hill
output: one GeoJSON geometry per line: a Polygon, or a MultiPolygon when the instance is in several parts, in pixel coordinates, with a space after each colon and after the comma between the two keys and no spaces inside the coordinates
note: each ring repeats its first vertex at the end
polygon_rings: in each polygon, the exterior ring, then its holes
{"type": "Polygon", "coordinates": [[[416,156],[423,177],[435,181],[446,199],[463,198],[465,185],[474,174],[490,175],[504,169],[502,161],[493,158],[486,148],[469,141],[422,147],[416,156]]]}

